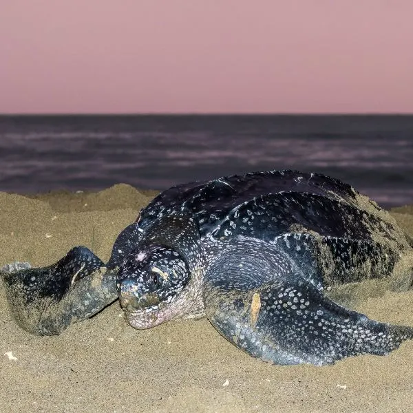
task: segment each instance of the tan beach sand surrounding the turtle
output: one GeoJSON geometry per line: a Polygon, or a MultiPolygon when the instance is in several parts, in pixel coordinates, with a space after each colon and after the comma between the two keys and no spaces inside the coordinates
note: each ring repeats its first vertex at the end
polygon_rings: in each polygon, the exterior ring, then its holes
{"type": "MultiPolygon", "coordinates": [[[[44,266],[80,244],[105,261],[155,193],[123,184],[0,193],[0,266],[44,266]]],[[[413,235],[413,207],[392,213],[413,235]]],[[[369,299],[360,310],[413,326],[413,291],[369,299]]],[[[282,367],[237,350],[207,319],[134,330],[117,301],[60,336],[36,337],[14,323],[0,284],[0,317],[0,412],[413,412],[412,341],[387,357],[282,367]]]]}

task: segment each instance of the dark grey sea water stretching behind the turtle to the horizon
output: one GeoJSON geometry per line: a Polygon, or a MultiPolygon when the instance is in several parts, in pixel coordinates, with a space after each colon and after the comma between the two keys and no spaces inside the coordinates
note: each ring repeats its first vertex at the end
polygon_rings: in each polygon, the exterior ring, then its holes
{"type": "Polygon", "coordinates": [[[413,204],[413,116],[0,116],[0,191],[317,171],[413,204]]]}

